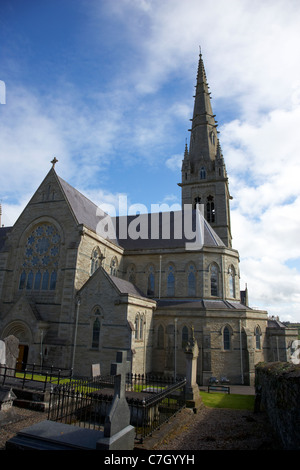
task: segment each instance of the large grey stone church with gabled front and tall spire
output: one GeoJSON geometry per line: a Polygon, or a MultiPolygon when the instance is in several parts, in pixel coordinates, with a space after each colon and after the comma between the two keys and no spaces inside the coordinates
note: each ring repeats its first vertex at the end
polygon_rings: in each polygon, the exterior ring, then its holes
{"type": "Polygon", "coordinates": [[[0,339],[19,339],[24,364],[73,368],[76,376],[100,364],[106,374],[122,349],[133,373],[180,376],[191,335],[200,385],[211,376],[253,384],[256,363],[290,360],[295,331],[251,308],[247,289],[240,291],[228,177],[201,54],[195,88],[179,186],[193,227],[202,223],[198,247],[189,249],[184,233],[174,236],[178,214],[171,212],[116,217],[114,234],[105,236],[103,214],[57,174],[55,160],[14,226],[0,228],[0,339]],[[134,224],[144,224],[147,236],[124,237],[134,224]]]}

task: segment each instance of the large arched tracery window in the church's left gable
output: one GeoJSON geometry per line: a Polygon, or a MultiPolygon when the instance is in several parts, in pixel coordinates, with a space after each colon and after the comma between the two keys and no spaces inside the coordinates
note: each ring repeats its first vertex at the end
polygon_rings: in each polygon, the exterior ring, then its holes
{"type": "Polygon", "coordinates": [[[57,228],[48,222],[36,225],[26,239],[19,289],[55,290],[59,251],[57,228]]]}

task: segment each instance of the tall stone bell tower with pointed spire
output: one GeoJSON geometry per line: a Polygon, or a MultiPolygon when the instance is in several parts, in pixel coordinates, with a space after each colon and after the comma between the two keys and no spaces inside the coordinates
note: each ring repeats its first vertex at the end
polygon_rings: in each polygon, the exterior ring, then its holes
{"type": "Polygon", "coordinates": [[[200,53],[190,146],[182,162],[182,208],[204,205],[204,216],[223,243],[231,247],[228,178],[218,138],[217,121],[211,107],[209,86],[200,53]]]}

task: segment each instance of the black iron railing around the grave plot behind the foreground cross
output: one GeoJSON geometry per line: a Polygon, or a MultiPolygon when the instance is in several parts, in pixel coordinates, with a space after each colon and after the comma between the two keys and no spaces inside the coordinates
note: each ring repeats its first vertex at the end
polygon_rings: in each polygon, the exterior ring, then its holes
{"type": "MultiPolygon", "coordinates": [[[[185,379],[127,375],[130,424],[142,441],[185,407],[185,379]]],[[[53,387],[48,419],[102,430],[114,396],[114,377],[81,379],[53,387]]]]}

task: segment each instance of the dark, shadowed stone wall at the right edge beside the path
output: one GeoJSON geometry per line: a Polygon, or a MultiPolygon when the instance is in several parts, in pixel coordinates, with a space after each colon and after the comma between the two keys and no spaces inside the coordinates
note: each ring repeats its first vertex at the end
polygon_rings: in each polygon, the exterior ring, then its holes
{"type": "Polygon", "coordinates": [[[300,364],[260,363],[255,387],[261,409],[287,450],[300,449],[300,364]]]}

